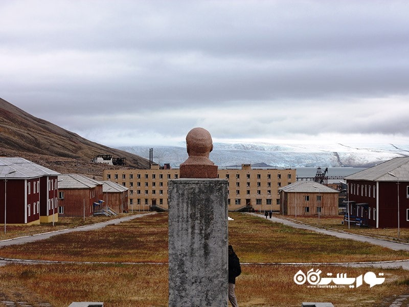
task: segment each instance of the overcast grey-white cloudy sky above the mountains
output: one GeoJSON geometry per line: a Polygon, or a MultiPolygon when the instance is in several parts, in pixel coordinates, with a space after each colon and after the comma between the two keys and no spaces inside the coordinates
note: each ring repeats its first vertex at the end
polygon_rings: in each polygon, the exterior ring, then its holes
{"type": "Polygon", "coordinates": [[[407,1],[1,0],[0,97],[109,146],[409,144],[407,1]]]}

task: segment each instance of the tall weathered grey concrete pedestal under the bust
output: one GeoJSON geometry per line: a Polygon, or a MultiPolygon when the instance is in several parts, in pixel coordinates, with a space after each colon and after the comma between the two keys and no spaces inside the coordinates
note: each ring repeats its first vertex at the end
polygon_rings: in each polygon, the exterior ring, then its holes
{"type": "Polygon", "coordinates": [[[227,306],[228,181],[168,181],[169,306],[227,306]]]}

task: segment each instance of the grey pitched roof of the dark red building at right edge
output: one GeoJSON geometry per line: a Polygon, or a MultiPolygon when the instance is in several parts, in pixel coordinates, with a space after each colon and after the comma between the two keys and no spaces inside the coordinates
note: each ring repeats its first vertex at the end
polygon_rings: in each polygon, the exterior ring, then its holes
{"type": "Polygon", "coordinates": [[[358,171],[345,177],[346,180],[409,181],[409,157],[394,158],[387,162],[358,171]],[[390,175],[394,174],[396,177],[390,175]]]}

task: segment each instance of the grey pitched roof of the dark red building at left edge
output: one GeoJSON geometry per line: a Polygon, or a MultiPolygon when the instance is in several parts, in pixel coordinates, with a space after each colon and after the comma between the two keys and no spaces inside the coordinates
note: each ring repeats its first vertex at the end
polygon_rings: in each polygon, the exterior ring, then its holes
{"type": "Polygon", "coordinates": [[[0,178],[29,179],[60,173],[23,158],[0,158],[0,178]]]}

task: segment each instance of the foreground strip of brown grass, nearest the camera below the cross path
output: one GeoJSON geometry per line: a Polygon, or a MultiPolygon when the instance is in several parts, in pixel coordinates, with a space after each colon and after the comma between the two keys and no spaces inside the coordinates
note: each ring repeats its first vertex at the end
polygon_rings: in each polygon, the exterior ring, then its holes
{"type": "MultiPolygon", "coordinates": [[[[408,291],[403,270],[378,270],[333,266],[242,266],[236,279],[236,293],[240,306],[299,306],[305,301],[332,302],[337,307],[378,306],[383,298],[408,291]],[[309,288],[297,285],[293,276],[298,270],[320,269],[326,273],[347,273],[357,277],[368,271],[384,273],[383,284],[361,287],[309,288]]],[[[0,268],[0,286],[9,297],[15,289],[35,293],[55,307],[67,306],[73,301],[103,301],[106,307],[167,306],[167,265],[11,265],[0,268]],[[5,291],[6,289],[6,291],[5,291]],[[12,290],[13,289],[13,290],[12,290]]],[[[332,284],[333,285],[333,284],[332,284]]],[[[13,294],[14,293],[14,294],[13,294]]],[[[35,300],[33,298],[27,300],[35,300]]]]}

